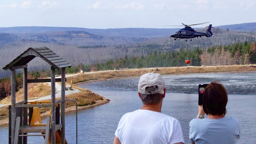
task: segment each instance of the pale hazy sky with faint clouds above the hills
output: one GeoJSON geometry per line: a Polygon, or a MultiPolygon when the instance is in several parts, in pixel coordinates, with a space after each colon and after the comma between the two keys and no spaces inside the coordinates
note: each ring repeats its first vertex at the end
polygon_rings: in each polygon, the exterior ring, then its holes
{"type": "Polygon", "coordinates": [[[256,0],[0,1],[0,27],[172,28],[164,25],[203,22],[219,26],[256,22],[255,14],[256,0]]]}

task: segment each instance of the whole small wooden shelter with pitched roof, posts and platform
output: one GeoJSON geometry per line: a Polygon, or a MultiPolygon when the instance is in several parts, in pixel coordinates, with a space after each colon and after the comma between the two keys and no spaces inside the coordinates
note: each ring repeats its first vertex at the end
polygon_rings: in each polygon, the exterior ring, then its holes
{"type": "MultiPolygon", "coordinates": [[[[28,48],[25,52],[23,52],[16,59],[12,60],[9,64],[7,64],[3,69],[11,71],[11,105],[9,106],[9,143],[19,143],[19,144],[27,144],[27,136],[35,136],[28,135],[29,132],[51,132],[51,143],[56,143],[56,131],[61,130],[61,143],[65,144],[65,68],[71,67],[71,64],[63,60],[60,56],[58,56],[55,52],[52,52],[47,47],[42,48],[28,48]],[[48,64],[51,65],[51,79],[40,79],[40,80],[28,80],[28,63],[33,60],[35,57],[40,57],[48,64]],[[23,100],[16,102],[16,69],[23,68],[23,100]],[[61,68],[61,78],[55,78],[55,70],[61,68]],[[61,81],[61,100],[56,102],[55,99],[55,83],[57,81],[61,81]],[[28,104],[28,83],[36,83],[36,82],[51,82],[51,103],[50,104],[28,104]],[[56,124],[56,104],[61,104],[61,123],[56,124]],[[31,107],[51,107],[51,127],[33,127],[28,124],[28,108],[31,107]],[[20,125],[16,125],[16,121],[19,121],[20,125]],[[18,128],[19,127],[19,128],[18,128]],[[22,133],[22,134],[20,134],[22,133]]],[[[30,113],[30,112],[29,112],[30,113]]],[[[44,134],[47,137],[46,134],[44,134]]]]}

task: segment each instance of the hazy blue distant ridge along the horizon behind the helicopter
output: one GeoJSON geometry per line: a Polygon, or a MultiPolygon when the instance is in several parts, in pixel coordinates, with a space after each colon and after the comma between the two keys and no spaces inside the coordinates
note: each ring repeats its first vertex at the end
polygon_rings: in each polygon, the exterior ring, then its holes
{"type": "MultiPolygon", "coordinates": [[[[256,31],[256,23],[232,24],[214,26],[223,30],[233,31],[256,31]]],[[[22,26],[0,28],[1,33],[49,33],[49,32],[67,32],[67,31],[85,31],[95,35],[105,36],[130,36],[130,37],[160,37],[169,36],[180,28],[108,28],[108,29],[90,29],[75,27],[43,27],[43,26],[22,26]]],[[[198,28],[197,28],[198,29],[198,28]]]]}

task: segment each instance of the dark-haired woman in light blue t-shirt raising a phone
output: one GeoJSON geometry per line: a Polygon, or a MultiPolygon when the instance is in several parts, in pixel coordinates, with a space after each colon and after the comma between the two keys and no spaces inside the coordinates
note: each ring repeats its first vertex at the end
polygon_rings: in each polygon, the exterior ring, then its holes
{"type": "Polygon", "coordinates": [[[227,117],[228,93],[222,84],[212,82],[204,89],[198,115],[189,123],[192,144],[234,144],[240,138],[240,125],[235,117],[227,117]],[[204,118],[204,114],[208,117],[204,118]]]}

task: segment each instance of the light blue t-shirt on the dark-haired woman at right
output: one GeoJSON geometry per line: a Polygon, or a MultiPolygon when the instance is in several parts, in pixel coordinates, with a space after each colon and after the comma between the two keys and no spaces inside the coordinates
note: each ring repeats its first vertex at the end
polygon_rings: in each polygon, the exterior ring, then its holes
{"type": "Polygon", "coordinates": [[[240,126],[235,117],[193,119],[189,123],[189,139],[196,144],[235,144],[239,138],[240,126]]]}

